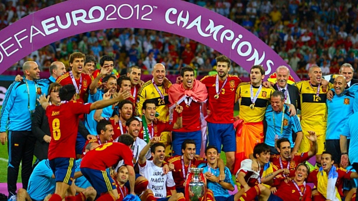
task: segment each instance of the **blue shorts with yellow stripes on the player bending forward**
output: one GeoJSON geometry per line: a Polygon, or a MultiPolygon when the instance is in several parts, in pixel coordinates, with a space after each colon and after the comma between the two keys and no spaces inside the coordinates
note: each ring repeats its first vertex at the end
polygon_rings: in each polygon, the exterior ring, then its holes
{"type": "Polygon", "coordinates": [[[95,170],[87,167],[81,167],[81,172],[87,178],[89,183],[97,191],[97,195],[116,189],[116,183],[105,170],[95,170]]]}

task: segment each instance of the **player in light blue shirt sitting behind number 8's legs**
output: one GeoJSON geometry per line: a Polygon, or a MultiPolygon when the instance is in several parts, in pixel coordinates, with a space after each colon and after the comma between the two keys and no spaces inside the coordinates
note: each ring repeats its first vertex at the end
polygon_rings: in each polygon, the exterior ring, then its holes
{"type": "MultiPolygon", "coordinates": [[[[74,177],[80,176],[80,172],[76,172],[74,177]]],[[[20,188],[18,191],[18,201],[39,201],[48,200],[50,196],[55,192],[56,180],[53,174],[49,160],[45,159],[39,162],[39,164],[33,170],[27,191],[24,188],[20,188]]],[[[75,188],[73,186],[73,188],[75,188]]],[[[92,187],[88,187],[80,192],[76,196],[76,201],[85,201],[86,198],[89,201],[93,201],[96,197],[96,191],[92,187]]]]}

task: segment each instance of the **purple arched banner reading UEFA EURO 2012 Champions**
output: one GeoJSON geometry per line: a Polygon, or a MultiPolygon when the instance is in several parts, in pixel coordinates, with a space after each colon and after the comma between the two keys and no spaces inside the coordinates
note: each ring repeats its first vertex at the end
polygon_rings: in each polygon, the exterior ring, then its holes
{"type": "MultiPolygon", "coordinates": [[[[226,55],[250,72],[266,75],[288,65],[242,26],[211,10],[180,0],[69,0],[39,10],[0,31],[0,74],[33,51],[79,33],[143,28],[188,37],[226,55]]],[[[292,71],[291,71],[292,72],[292,71]]],[[[292,77],[300,80],[294,72],[292,77]]]]}

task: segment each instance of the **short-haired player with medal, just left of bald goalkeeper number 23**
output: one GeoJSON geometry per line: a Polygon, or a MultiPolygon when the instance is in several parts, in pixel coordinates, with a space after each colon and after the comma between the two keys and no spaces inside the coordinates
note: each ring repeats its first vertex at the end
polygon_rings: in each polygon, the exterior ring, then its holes
{"type": "Polygon", "coordinates": [[[137,103],[137,94],[140,87],[139,82],[142,82],[140,80],[140,76],[141,76],[141,70],[138,66],[133,65],[128,68],[127,77],[129,77],[131,81],[131,96],[128,98],[128,100],[130,100],[134,106],[137,103]]]}

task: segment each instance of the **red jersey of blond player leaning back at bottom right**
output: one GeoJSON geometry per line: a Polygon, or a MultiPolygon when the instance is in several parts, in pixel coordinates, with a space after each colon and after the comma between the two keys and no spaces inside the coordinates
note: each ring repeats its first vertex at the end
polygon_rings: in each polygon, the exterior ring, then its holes
{"type": "MultiPolygon", "coordinates": [[[[311,201],[311,187],[309,185],[306,185],[306,187],[301,184],[297,185],[300,188],[300,191],[303,194],[302,200],[303,201],[311,201]],[[306,189],[306,191],[305,191],[306,189]]],[[[286,183],[284,180],[281,180],[279,186],[277,186],[277,192],[275,195],[279,196],[282,200],[300,200],[300,192],[297,190],[295,184],[290,181],[286,183]]]]}

